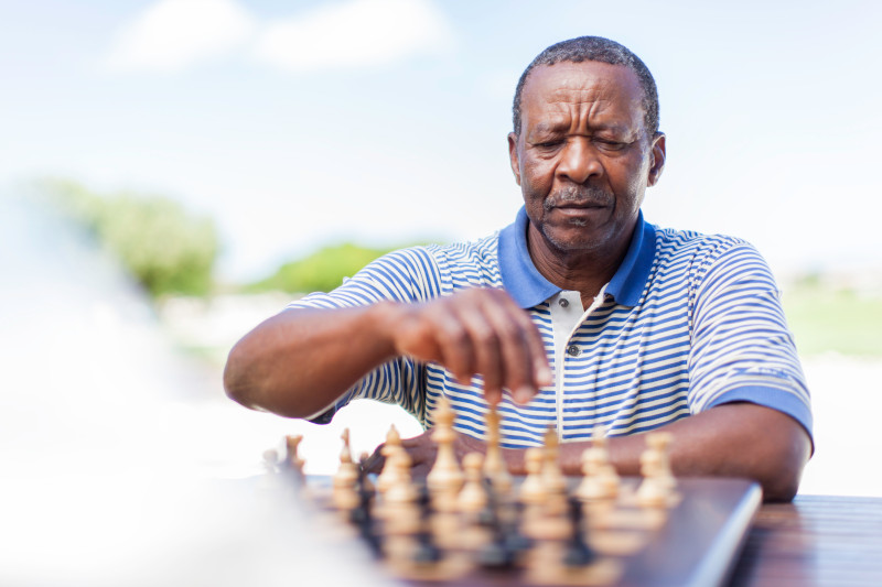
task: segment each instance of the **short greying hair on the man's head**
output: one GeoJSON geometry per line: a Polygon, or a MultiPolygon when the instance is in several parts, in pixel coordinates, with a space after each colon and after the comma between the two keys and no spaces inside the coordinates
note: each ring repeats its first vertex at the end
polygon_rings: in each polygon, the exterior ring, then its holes
{"type": "Polygon", "coordinates": [[[556,63],[567,62],[601,62],[610,65],[624,65],[634,72],[643,88],[644,123],[649,137],[655,137],[658,132],[658,88],[655,85],[653,74],[649,73],[646,64],[630,48],[602,36],[579,36],[556,43],[542,51],[524,69],[515,89],[515,101],[512,107],[515,134],[520,134],[520,95],[524,93],[527,76],[535,67],[540,65],[555,65],[556,63]]]}

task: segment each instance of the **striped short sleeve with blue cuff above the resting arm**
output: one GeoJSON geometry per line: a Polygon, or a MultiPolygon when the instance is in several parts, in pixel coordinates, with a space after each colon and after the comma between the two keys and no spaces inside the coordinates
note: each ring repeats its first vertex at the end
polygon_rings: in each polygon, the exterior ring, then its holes
{"type": "Polygon", "coordinates": [[[789,415],[811,436],[808,388],[765,260],[727,239],[697,261],[692,278],[692,413],[746,401],[789,415]]]}

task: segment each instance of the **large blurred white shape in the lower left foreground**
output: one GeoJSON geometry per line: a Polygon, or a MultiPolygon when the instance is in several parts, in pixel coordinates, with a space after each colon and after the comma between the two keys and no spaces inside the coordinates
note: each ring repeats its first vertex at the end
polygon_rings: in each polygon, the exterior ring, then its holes
{"type": "Polygon", "coordinates": [[[295,500],[212,479],[214,447],[255,464],[268,447],[228,414],[284,421],[174,355],[76,231],[22,199],[0,196],[0,584],[386,583],[356,545],[316,540],[295,500]]]}

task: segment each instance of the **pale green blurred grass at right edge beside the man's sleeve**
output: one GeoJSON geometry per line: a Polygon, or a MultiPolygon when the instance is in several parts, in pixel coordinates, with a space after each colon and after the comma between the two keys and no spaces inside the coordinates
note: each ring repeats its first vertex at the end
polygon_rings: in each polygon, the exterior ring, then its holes
{"type": "Polygon", "coordinates": [[[800,355],[882,356],[882,295],[833,290],[816,280],[785,291],[782,302],[800,355]]]}

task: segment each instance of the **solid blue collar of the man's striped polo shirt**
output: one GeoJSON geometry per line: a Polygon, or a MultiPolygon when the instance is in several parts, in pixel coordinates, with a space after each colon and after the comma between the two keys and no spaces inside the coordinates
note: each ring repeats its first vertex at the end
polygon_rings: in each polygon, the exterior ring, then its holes
{"type": "MultiPolygon", "coordinates": [[[[539,273],[527,250],[527,210],[521,207],[515,222],[499,232],[499,272],[505,290],[523,307],[538,306],[561,291],[539,273]]],[[[617,304],[636,306],[649,279],[655,258],[655,227],[637,217],[637,226],[622,264],[606,286],[617,304]]]]}

